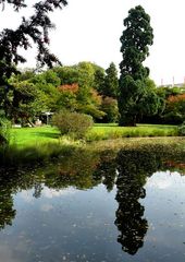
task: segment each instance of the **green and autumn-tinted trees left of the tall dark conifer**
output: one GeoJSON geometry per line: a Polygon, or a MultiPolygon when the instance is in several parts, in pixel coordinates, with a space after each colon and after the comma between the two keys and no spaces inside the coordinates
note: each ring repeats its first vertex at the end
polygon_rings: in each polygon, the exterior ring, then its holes
{"type": "Polygon", "coordinates": [[[95,121],[118,120],[118,71],[91,62],[57,67],[44,72],[25,70],[1,88],[1,108],[14,123],[34,122],[44,112],[63,109],[90,115],[95,121]]]}

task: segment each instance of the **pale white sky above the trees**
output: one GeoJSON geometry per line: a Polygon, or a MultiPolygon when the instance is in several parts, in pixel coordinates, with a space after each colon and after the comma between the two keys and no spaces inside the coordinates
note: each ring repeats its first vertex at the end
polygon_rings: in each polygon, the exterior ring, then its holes
{"type": "MultiPolygon", "coordinates": [[[[150,78],[157,85],[185,82],[184,0],[69,0],[67,7],[51,15],[57,28],[50,32],[50,50],[64,66],[91,61],[107,69],[114,62],[119,69],[123,20],[138,4],[150,15],[155,34],[145,61],[150,78]]],[[[0,29],[16,28],[21,15],[7,5],[0,11],[0,29]]],[[[35,67],[34,49],[25,56],[28,62],[24,67],[35,67]]]]}

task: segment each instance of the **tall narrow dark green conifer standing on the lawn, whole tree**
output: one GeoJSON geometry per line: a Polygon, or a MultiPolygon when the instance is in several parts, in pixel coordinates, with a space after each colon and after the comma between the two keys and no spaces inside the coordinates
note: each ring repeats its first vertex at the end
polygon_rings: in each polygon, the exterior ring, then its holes
{"type": "MultiPolygon", "coordinates": [[[[120,38],[123,56],[120,63],[119,84],[120,126],[135,126],[137,117],[143,114],[145,97],[148,94],[146,80],[149,75],[149,69],[144,67],[143,62],[149,55],[153,34],[150,16],[140,5],[128,11],[124,26],[125,29],[120,38]]],[[[156,103],[156,99],[151,100],[156,103]]]]}

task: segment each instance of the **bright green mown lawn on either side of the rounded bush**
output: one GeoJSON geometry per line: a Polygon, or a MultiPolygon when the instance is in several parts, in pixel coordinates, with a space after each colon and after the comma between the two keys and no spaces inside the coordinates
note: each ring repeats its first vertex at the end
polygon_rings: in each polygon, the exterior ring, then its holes
{"type": "MultiPolygon", "coordinates": [[[[143,138],[143,136],[175,136],[176,126],[165,124],[138,124],[138,127],[118,127],[115,123],[96,123],[88,131],[86,140],[88,142],[121,139],[121,138],[143,138]]],[[[49,126],[37,128],[14,128],[11,130],[11,144],[18,147],[37,145],[42,143],[59,142],[60,132],[49,126]]]]}

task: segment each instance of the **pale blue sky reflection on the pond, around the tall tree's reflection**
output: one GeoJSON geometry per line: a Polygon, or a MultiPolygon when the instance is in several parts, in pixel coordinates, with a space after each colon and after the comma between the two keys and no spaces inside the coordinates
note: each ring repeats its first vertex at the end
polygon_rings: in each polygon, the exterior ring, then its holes
{"type": "Polygon", "coordinates": [[[53,190],[42,184],[14,195],[16,216],[0,231],[0,262],[184,262],[185,177],[160,171],[147,178],[144,217],[148,231],[135,255],[124,253],[114,225],[116,189],[53,190]]]}

